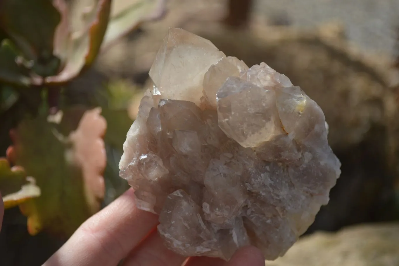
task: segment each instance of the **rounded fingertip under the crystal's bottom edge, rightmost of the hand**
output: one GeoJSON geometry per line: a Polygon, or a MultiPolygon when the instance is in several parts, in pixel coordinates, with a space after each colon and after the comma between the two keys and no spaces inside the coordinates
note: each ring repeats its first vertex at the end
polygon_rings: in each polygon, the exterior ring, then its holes
{"type": "Polygon", "coordinates": [[[227,266],[265,266],[265,258],[259,248],[245,246],[233,254],[227,266]]]}

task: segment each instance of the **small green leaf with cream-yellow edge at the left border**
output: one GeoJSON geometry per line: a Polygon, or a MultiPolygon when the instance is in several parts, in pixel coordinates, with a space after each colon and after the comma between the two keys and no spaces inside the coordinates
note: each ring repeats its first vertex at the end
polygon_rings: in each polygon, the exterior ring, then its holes
{"type": "Polygon", "coordinates": [[[6,209],[40,196],[34,178],[26,177],[20,166],[10,167],[6,158],[0,158],[0,192],[6,209]]]}

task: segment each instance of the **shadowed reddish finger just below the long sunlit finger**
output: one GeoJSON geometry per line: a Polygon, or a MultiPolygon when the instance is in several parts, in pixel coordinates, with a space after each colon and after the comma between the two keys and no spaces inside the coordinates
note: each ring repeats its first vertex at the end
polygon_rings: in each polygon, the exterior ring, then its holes
{"type": "Polygon", "coordinates": [[[158,232],[154,230],[124,260],[123,266],[180,266],[186,257],[166,248],[158,232]]]}

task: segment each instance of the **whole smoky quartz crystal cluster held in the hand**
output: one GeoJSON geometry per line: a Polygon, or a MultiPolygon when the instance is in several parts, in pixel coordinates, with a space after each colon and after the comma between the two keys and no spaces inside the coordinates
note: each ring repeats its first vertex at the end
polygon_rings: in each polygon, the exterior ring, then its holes
{"type": "Polygon", "coordinates": [[[170,28],[127,133],[120,176],[184,256],[282,256],[327,204],[340,162],[320,107],[267,66],[170,28]]]}

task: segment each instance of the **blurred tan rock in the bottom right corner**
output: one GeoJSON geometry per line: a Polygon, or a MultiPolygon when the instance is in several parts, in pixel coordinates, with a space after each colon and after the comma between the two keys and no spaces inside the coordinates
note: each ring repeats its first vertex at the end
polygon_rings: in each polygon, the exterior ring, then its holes
{"type": "Polygon", "coordinates": [[[361,225],[301,238],[266,266],[396,266],[399,224],[361,225]]]}

